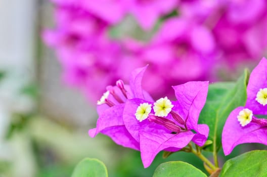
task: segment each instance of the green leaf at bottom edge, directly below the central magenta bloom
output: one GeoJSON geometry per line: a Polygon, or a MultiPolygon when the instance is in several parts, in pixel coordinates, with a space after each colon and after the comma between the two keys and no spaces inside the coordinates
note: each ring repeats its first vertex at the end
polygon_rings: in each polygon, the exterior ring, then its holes
{"type": "Polygon", "coordinates": [[[174,177],[174,176],[207,177],[207,175],[203,173],[200,169],[194,167],[189,163],[181,161],[162,163],[156,168],[153,174],[153,177],[174,177]]]}

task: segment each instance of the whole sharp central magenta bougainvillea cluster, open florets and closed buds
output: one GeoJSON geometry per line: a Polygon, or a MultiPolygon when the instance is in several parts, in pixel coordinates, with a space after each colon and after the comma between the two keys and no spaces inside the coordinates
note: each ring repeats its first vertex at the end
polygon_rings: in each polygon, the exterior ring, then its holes
{"type": "Polygon", "coordinates": [[[101,132],[118,145],[140,151],[145,168],[160,151],[180,151],[191,141],[201,147],[209,134],[208,125],[198,124],[208,81],[175,85],[176,101],[165,97],[155,102],[142,88],[146,69],[133,70],[129,85],[118,80],[107,87],[98,101],[97,126],[88,131],[92,138],[101,132]]]}

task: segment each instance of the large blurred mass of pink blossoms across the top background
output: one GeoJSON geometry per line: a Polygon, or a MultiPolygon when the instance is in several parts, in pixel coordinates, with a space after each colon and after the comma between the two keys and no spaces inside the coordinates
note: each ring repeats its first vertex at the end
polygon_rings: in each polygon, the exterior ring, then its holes
{"type": "Polygon", "coordinates": [[[217,66],[260,58],[267,48],[265,0],[51,1],[56,28],[43,39],[56,50],[64,80],[91,101],[146,64],[144,89],[157,97],[171,93],[170,85],[212,80],[217,66]],[[153,32],[149,40],[110,37],[128,15],[144,33],[153,32]]]}

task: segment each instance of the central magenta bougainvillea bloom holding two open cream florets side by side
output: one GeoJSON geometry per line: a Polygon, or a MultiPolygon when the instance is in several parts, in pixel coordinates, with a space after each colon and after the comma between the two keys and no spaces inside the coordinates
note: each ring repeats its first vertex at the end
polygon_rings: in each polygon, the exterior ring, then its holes
{"type": "Polygon", "coordinates": [[[156,102],[140,98],[126,101],[123,121],[129,134],[140,143],[145,168],[162,150],[179,151],[191,141],[203,146],[207,140],[208,126],[197,122],[206,102],[208,82],[187,82],[173,89],[177,101],[167,97],[156,102]]]}

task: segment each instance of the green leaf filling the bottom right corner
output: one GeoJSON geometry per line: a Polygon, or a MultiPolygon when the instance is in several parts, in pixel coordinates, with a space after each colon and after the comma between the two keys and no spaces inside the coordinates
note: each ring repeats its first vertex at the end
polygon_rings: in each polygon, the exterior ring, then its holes
{"type": "Polygon", "coordinates": [[[267,176],[267,151],[250,151],[228,160],[221,169],[220,177],[267,176]]]}

